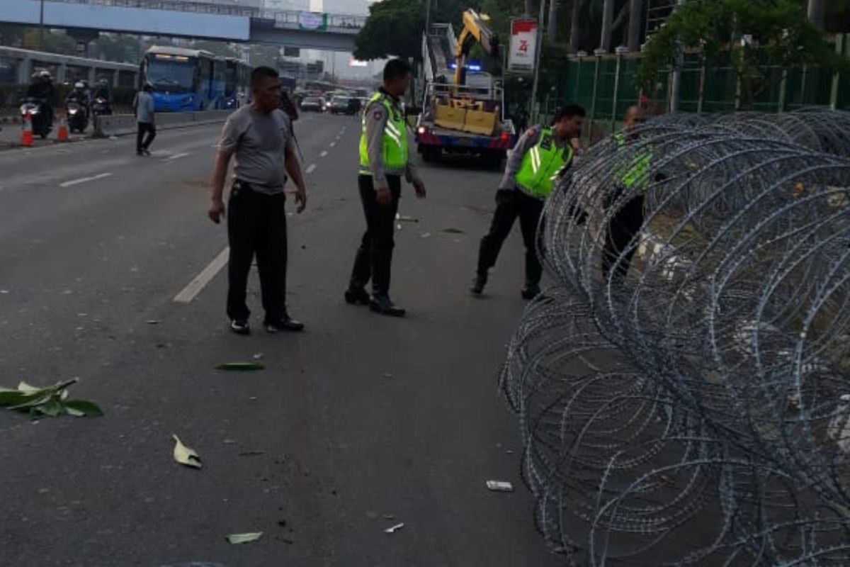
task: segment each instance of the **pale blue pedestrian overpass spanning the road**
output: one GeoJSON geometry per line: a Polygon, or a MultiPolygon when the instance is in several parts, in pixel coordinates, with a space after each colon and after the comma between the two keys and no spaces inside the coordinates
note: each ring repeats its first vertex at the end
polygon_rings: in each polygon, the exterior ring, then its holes
{"type": "Polygon", "coordinates": [[[0,0],[0,22],[143,36],[353,51],[365,16],[274,11],[180,0],[0,0]]]}

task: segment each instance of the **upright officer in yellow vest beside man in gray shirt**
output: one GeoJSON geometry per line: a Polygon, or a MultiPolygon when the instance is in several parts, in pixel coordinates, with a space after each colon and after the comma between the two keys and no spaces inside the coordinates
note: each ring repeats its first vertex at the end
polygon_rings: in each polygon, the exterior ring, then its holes
{"type": "Polygon", "coordinates": [[[389,61],[383,69],[383,87],[372,95],[363,111],[358,184],[366,231],[345,292],[347,303],[369,305],[372,311],[395,317],[405,315],[405,309],[389,298],[401,176],[413,184],[417,197],[425,197],[425,185],[416,175],[407,148],[405,111],[400,101],[410,84],[410,65],[403,60],[389,61]],[[370,279],[371,298],[365,290],[370,279]]]}

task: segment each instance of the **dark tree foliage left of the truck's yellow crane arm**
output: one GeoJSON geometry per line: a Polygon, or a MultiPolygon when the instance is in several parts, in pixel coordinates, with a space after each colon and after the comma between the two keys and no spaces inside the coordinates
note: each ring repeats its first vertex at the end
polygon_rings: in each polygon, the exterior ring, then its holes
{"type": "Polygon", "coordinates": [[[354,38],[354,58],[361,61],[390,56],[422,59],[425,6],[411,0],[372,3],[365,25],[354,38]]]}

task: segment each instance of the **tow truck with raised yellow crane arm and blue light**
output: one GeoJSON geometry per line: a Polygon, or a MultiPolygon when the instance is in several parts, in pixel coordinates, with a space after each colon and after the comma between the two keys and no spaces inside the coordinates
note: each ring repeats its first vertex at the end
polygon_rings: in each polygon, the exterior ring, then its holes
{"type": "Polygon", "coordinates": [[[416,118],[416,151],[426,162],[444,154],[479,156],[501,167],[513,141],[513,123],[505,117],[501,84],[487,73],[467,73],[467,57],[479,43],[498,58],[499,41],[489,18],[468,9],[455,37],[450,24],[435,24],[422,37],[425,88],[422,113],[416,118]]]}

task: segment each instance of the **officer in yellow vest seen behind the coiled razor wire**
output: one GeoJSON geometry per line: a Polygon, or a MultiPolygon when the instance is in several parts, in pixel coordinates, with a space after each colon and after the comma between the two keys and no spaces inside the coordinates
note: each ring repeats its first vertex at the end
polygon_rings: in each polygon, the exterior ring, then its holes
{"type": "Polygon", "coordinates": [[[636,135],[634,129],[642,122],[643,111],[638,106],[630,106],[623,115],[623,130],[614,136],[615,143],[620,148],[618,153],[626,152],[628,156],[624,153],[624,162],[615,163],[613,177],[616,185],[609,193],[605,207],[613,206],[624,191],[636,194],[620,205],[609,222],[602,254],[602,275],[605,279],[608,279],[612,268],[617,279],[628,273],[632,256],[637,249],[629,245],[643,227],[643,192],[650,181],[651,156],[647,149],[626,150],[626,146],[636,135]]]}

